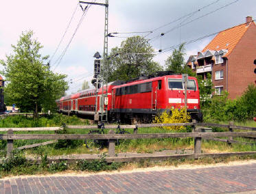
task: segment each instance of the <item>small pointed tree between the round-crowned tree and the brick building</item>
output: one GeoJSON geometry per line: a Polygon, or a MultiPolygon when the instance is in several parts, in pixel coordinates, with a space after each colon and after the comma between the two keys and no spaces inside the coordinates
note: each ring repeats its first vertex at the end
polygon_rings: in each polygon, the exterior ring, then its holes
{"type": "Polygon", "coordinates": [[[189,76],[196,76],[196,73],[185,65],[184,62],[185,48],[184,44],[181,44],[177,49],[174,49],[172,55],[170,55],[165,61],[165,69],[173,71],[175,73],[189,74],[189,76]]]}

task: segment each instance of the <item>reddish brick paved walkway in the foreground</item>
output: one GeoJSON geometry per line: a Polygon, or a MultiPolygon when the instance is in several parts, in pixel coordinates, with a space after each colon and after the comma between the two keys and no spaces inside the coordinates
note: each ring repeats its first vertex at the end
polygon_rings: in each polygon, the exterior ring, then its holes
{"type": "Polygon", "coordinates": [[[0,193],[256,193],[256,163],[91,176],[0,180],[0,193]]]}

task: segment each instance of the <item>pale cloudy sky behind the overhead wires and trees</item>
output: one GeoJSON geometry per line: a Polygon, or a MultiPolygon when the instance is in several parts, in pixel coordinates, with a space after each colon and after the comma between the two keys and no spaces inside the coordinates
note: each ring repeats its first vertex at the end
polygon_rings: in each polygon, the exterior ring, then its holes
{"type": "MultiPolygon", "coordinates": [[[[256,18],[255,0],[109,0],[108,3],[108,33],[119,32],[118,38],[108,38],[108,53],[126,37],[146,36],[156,51],[154,60],[162,66],[172,54],[167,48],[245,23],[246,16],[256,18]],[[166,52],[158,53],[159,49],[166,52]]],[[[51,70],[68,75],[66,93],[77,92],[84,80],[91,83],[93,55],[97,51],[102,55],[104,44],[104,6],[89,6],[78,27],[82,14],[76,0],[1,1],[0,59],[5,60],[5,55],[13,52],[11,45],[16,45],[22,32],[32,30],[34,38],[44,46],[41,54],[51,59],[51,70]],[[58,60],[66,47],[65,55],[58,60]]],[[[197,55],[212,38],[185,44],[185,59],[197,55]]]]}

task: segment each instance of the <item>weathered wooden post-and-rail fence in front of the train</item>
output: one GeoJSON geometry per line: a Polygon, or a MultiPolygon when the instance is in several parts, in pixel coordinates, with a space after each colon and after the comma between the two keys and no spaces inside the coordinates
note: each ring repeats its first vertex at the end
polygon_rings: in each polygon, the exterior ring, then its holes
{"type": "MultiPolygon", "coordinates": [[[[68,128],[97,128],[97,126],[67,126],[68,128]]],[[[256,154],[256,152],[229,152],[229,153],[215,153],[215,154],[202,154],[201,152],[201,142],[202,139],[211,139],[213,141],[224,141],[226,143],[241,143],[234,141],[233,137],[256,137],[256,128],[245,127],[245,126],[235,126],[233,123],[227,124],[211,124],[211,123],[178,123],[178,124],[137,124],[137,125],[121,125],[121,128],[133,128],[134,134],[115,134],[113,130],[109,130],[108,134],[14,134],[14,130],[59,130],[61,128],[4,128],[8,130],[7,134],[1,134],[0,139],[6,139],[8,141],[7,151],[8,156],[11,156],[13,151],[13,141],[16,139],[53,139],[57,141],[58,139],[106,139],[108,140],[108,156],[106,161],[111,162],[129,162],[129,161],[141,161],[141,160],[165,160],[168,158],[203,158],[203,157],[220,157],[220,156],[241,156],[241,155],[251,155],[256,154]],[[192,133],[146,133],[138,134],[137,131],[139,128],[143,127],[163,127],[163,126],[192,126],[192,133]],[[213,126],[220,128],[229,128],[229,132],[214,132],[214,133],[204,133],[202,129],[205,126],[213,126]],[[246,132],[234,132],[234,129],[240,130],[251,130],[246,132]],[[130,156],[118,156],[115,154],[115,143],[119,139],[160,139],[160,138],[194,138],[194,154],[135,154],[130,156]],[[228,139],[218,139],[218,137],[228,137],[228,139]]],[[[105,128],[117,128],[117,125],[106,125],[105,128]]],[[[0,129],[0,130],[3,130],[0,129]]],[[[37,143],[36,146],[42,146],[45,144],[37,143]]],[[[34,145],[34,144],[33,144],[34,145]]],[[[32,146],[32,145],[29,145],[32,146]]],[[[32,148],[27,146],[27,148],[32,148]]],[[[25,146],[23,146],[25,147],[25,146]]],[[[19,149],[19,148],[18,148],[19,149]]],[[[69,161],[74,161],[79,158],[62,158],[69,161]]],[[[95,157],[88,158],[88,160],[93,160],[95,157]]],[[[57,160],[57,159],[56,159],[57,160]]]]}

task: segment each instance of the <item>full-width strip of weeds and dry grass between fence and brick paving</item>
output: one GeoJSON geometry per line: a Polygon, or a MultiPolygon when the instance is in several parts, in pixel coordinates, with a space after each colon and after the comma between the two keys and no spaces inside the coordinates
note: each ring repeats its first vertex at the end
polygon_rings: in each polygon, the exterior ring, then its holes
{"type": "Polygon", "coordinates": [[[75,170],[75,171],[112,171],[112,170],[127,170],[141,167],[154,166],[174,166],[178,165],[207,165],[213,163],[229,163],[232,161],[256,159],[256,154],[251,156],[228,156],[222,158],[200,158],[200,159],[168,159],[165,161],[150,161],[144,160],[136,163],[106,163],[105,154],[102,154],[100,160],[86,161],[81,160],[76,163],[67,163],[67,161],[52,161],[49,162],[47,157],[43,158],[41,163],[27,161],[24,154],[14,152],[11,158],[2,158],[0,162],[0,178],[4,176],[15,176],[25,174],[52,174],[60,171],[75,170]]]}

